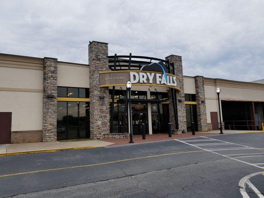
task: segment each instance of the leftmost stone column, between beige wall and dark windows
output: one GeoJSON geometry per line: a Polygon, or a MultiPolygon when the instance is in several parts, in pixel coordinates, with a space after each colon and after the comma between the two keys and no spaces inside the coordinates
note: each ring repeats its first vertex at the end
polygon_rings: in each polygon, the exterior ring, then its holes
{"type": "Polygon", "coordinates": [[[43,142],[57,140],[57,58],[44,57],[43,142]]]}

